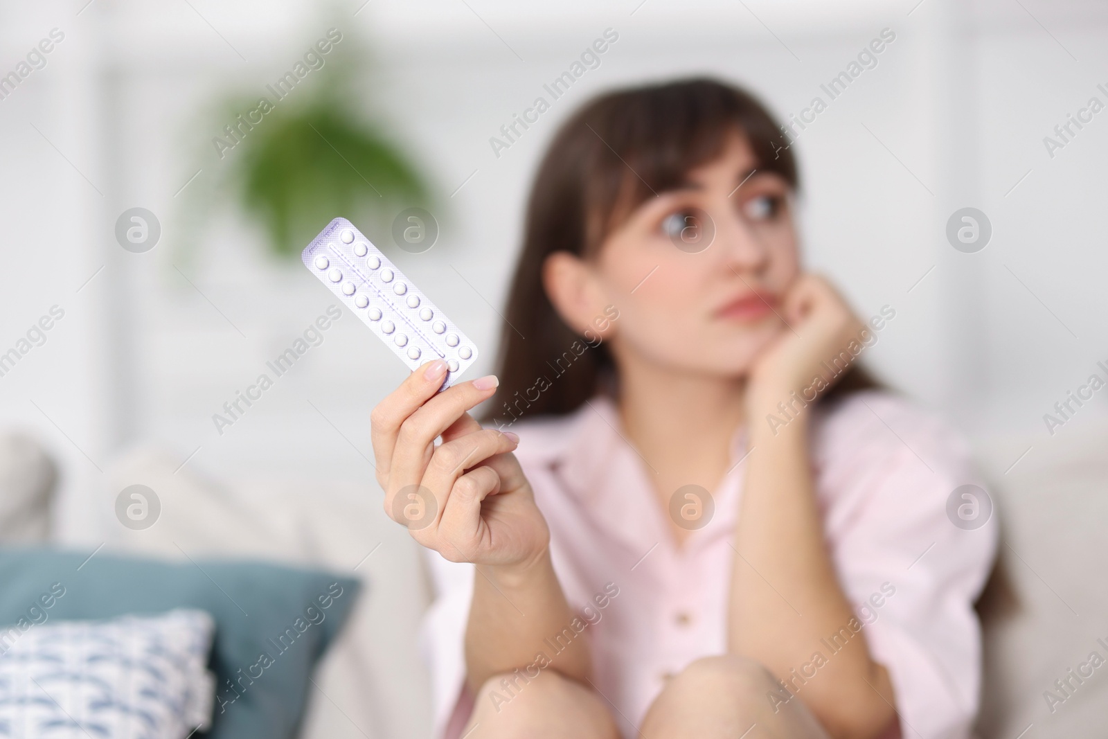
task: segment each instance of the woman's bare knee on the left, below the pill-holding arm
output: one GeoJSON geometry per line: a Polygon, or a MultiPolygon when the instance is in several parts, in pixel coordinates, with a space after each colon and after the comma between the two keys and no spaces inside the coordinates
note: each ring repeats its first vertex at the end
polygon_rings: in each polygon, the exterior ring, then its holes
{"type": "Polygon", "coordinates": [[[618,731],[594,691],[554,670],[536,677],[517,670],[485,680],[463,735],[466,739],[615,739],[618,731]]]}

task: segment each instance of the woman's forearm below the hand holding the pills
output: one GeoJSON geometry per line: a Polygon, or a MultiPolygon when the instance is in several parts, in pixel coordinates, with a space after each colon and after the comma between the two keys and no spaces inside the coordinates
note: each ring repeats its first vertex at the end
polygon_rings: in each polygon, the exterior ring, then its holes
{"type": "Polygon", "coordinates": [[[592,659],[577,616],[554,574],[550,548],[532,563],[476,565],[465,630],[466,680],[478,690],[493,675],[515,673],[525,685],[542,669],[588,685],[592,659]]]}

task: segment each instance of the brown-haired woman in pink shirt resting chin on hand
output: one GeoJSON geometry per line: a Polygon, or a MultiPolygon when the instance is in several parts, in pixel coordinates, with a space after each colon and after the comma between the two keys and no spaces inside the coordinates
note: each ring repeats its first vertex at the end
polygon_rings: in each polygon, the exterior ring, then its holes
{"type": "Polygon", "coordinates": [[[947,519],[961,439],[851,366],[895,307],[801,269],[797,184],[735,88],[601,96],[540,167],[499,389],[430,362],[373,410],[443,736],[968,733],[995,528],[947,519]]]}

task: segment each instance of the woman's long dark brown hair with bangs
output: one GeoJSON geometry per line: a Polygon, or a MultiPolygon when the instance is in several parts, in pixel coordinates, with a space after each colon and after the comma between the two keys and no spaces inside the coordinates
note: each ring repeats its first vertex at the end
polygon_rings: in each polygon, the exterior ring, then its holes
{"type": "MultiPolygon", "coordinates": [[[[614,390],[607,347],[579,336],[557,315],[543,287],[543,263],[558,250],[594,255],[622,218],[719,156],[736,130],[759,172],[774,172],[798,188],[792,150],[773,117],[749,93],[716,80],[609,92],[562,125],[531,189],[497,359],[500,404],[483,420],[506,427],[523,417],[568,413],[596,392],[614,390]]],[[[853,366],[820,402],[873,387],[853,366]]]]}

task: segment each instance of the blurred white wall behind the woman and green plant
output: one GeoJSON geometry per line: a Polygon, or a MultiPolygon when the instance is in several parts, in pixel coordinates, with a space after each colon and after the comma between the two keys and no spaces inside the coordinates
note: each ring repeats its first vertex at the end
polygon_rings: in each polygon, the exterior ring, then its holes
{"type": "MultiPolygon", "coordinates": [[[[0,277],[0,343],[13,343],[51,305],[66,309],[48,343],[0,378],[0,408],[52,440],[70,493],[94,485],[96,466],[120,444],[148,439],[182,460],[199,448],[189,464],[216,472],[370,471],[307,402],[367,448],[368,410],[402,367],[353,320],[216,434],[212,413],[329,300],[298,265],[273,264],[256,225],[232,207],[211,212],[198,248],[184,250],[182,202],[192,193],[175,196],[197,170],[189,187],[202,189],[227,164],[207,144],[219,125],[213,100],[259,90],[332,24],[369,41],[376,68],[362,84],[377,101],[372,112],[391,122],[442,194],[439,245],[400,256],[483,348],[476,371],[494,356],[499,318],[485,300],[502,300],[531,173],[574,106],[616,84],[711,73],[749,85],[783,115],[893,29],[879,66],[797,144],[810,264],[860,312],[897,309],[870,357],[891,383],[975,432],[1064,438],[1068,429],[1046,435],[1042,414],[1108,359],[1096,289],[1108,259],[1096,208],[1108,125],[1098,116],[1053,160],[1042,137],[1108,82],[1097,6],[470,4],[3,7],[4,69],[51,28],[66,34],[47,68],[0,101],[0,233],[11,255],[0,277]],[[489,137],[608,27],[619,41],[601,68],[495,157],[489,137]],[[143,255],[123,252],[112,234],[133,205],[164,227],[143,255]],[[975,255],[943,236],[964,205],[994,225],[993,243],[975,255]],[[35,258],[21,258],[25,252],[35,258]]],[[[1083,414],[1104,412],[1102,398],[1092,406],[1083,414]]]]}

